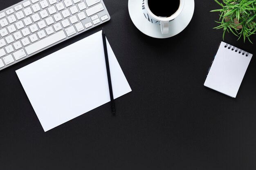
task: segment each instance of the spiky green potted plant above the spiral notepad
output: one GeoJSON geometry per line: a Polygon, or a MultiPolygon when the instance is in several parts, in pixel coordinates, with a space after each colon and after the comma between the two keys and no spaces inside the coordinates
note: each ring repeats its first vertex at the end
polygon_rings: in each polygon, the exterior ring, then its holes
{"type": "Polygon", "coordinates": [[[256,31],[256,0],[222,0],[223,3],[215,0],[221,9],[211,12],[220,12],[219,26],[214,29],[223,29],[223,40],[226,32],[243,37],[252,43],[250,36],[256,31]]]}

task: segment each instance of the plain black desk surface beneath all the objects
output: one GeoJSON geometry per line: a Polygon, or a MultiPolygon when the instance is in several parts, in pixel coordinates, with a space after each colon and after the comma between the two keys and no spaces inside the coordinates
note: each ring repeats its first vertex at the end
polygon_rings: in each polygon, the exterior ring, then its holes
{"type": "MultiPolygon", "coordinates": [[[[189,26],[156,39],[134,26],[128,0],[104,2],[109,22],[0,72],[0,170],[255,170],[256,60],[236,98],[203,86],[222,40],[218,4],[195,0],[189,26]],[[44,132],[15,71],[102,27],[132,92],[115,117],[108,103],[44,132]]],[[[234,35],[225,42],[256,55],[234,35]]]]}

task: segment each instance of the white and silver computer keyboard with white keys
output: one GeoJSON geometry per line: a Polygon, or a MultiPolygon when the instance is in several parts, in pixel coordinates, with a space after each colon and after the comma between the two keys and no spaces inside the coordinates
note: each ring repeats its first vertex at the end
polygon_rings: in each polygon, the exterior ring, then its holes
{"type": "Polygon", "coordinates": [[[0,70],[108,20],[103,0],[23,0],[0,11],[0,70]]]}

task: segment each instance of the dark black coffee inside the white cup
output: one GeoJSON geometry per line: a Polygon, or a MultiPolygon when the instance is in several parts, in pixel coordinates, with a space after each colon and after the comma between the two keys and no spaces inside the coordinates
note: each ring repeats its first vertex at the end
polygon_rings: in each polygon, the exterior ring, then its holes
{"type": "Polygon", "coordinates": [[[170,17],[180,7],[180,0],[148,0],[150,11],[159,17],[170,17]]]}

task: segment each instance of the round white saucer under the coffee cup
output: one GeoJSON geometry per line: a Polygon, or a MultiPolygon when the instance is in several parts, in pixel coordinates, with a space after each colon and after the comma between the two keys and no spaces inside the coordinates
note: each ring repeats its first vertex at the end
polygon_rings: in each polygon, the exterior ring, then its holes
{"type": "Polygon", "coordinates": [[[142,0],[128,0],[130,18],[139,31],[153,38],[169,38],[183,31],[186,26],[189,25],[195,9],[194,0],[185,0],[182,13],[180,13],[177,18],[169,22],[169,33],[162,34],[160,25],[152,24],[146,20],[142,12],[141,5],[142,0]]]}

